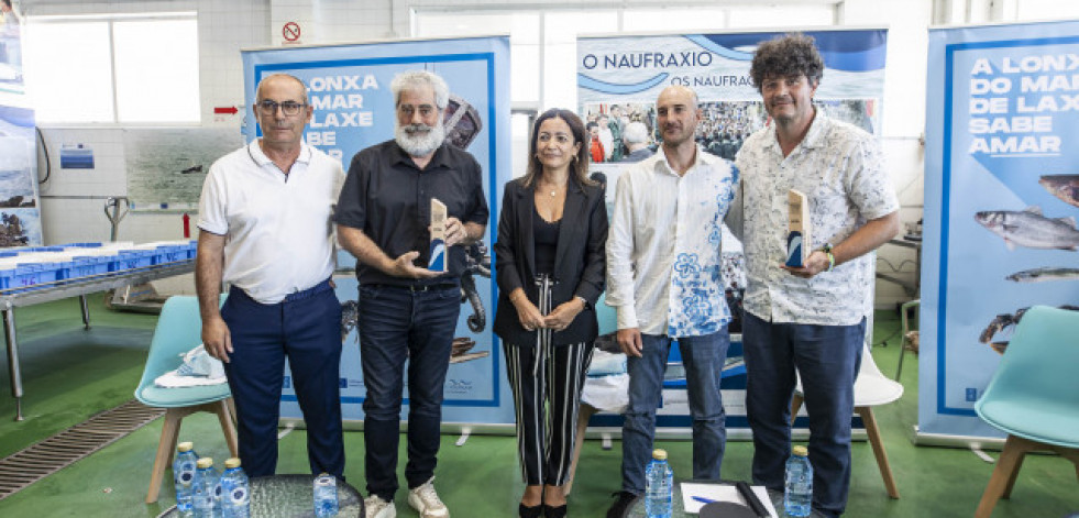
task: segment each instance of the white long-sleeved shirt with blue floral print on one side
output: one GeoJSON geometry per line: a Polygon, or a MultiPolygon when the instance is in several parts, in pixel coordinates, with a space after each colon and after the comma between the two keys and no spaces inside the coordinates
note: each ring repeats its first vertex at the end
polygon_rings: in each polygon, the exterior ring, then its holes
{"type": "Polygon", "coordinates": [[[618,329],[700,337],[730,321],[720,244],[737,185],[738,169],[700,146],[682,176],[662,152],[621,174],[607,239],[606,300],[618,329]]]}

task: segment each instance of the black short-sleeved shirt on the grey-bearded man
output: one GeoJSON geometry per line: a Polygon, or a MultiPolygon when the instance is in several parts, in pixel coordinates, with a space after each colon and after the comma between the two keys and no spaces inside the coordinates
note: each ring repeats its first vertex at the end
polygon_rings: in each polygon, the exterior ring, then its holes
{"type": "MultiPolygon", "coordinates": [[[[431,198],[445,203],[448,216],[462,223],[487,224],[489,212],[483,194],[483,172],[471,154],[443,143],[420,170],[408,153],[389,140],[352,157],[333,221],[360,229],[390,258],[419,252],[415,264],[427,267],[431,198]]],[[[360,284],[367,285],[456,283],[464,266],[463,247],[451,246],[447,275],[415,280],[357,263],[356,277],[360,284]]]]}

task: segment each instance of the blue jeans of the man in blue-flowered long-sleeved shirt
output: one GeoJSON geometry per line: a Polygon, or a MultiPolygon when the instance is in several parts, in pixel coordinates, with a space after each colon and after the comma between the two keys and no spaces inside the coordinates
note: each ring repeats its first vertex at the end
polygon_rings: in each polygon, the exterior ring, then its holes
{"type": "MultiPolygon", "coordinates": [[[[637,495],[645,493],[645,466],[652,459],[656,408],[662,397],[671,338],[642,334],[641,342],[641,357],[629,356],[627,363],[629,406],[621,427],[621,488],[637,495]]],[[[678,342],[693,418],[693,478],[718,481],[727,442],[719,378],[730,335],[725,326],[718,332],[682,337],[678,342]]]]}

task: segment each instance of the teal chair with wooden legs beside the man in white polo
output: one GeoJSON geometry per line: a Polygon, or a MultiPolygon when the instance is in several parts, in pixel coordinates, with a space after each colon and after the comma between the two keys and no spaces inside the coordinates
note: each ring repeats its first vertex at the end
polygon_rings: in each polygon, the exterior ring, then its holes
{"type": "MultiPolygon", "coordinates": [[[[224,296],[221,296],[224,301],[224,296]]],[[[173,464],[176,452],[176,439],[179,434],[180,420],[197,411],[217,414],[224,431],[225,442],[232,456],[238,456],[236,429],[233,425],[235,410],[232,408],[232,393],[229,384],[162,388],[154,385],[162,374],[180,366],[181,354],[202,343],[202,319],[199,317],[199,302],[196,297],[173,296],[165,301],[157,329],[150,343],[150,355],[146,367],[142,372],[135,398],[150,407],[165,408],[165,423],[161,430],[161,441],[157,443],[157,456],[154,459],[154,473],[150,478],[150,491],[146,493],[146,504],[157,502],[165,469],[173,464]]],[[[196,444],[198,448],[198,444],[196,444]]]]}

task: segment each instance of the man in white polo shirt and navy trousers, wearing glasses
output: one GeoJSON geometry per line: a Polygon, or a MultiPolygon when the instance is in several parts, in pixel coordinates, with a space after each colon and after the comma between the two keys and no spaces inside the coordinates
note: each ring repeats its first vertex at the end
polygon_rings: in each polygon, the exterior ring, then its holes
{"type": "Polygon", "coordinates": [[[258,84],[263,136],[210,167],[199,200],[195,279],[207,352],[224,362],[252,477],[277,469],[285,359],[307,421],[312,473],[344,471],[341,305],[333,294],[333,225],[344,170],[302,141],[311,121],[304,84],[258,84]],[[221,282],[231,285],[218,309],[221,282]]]}

